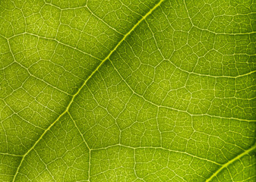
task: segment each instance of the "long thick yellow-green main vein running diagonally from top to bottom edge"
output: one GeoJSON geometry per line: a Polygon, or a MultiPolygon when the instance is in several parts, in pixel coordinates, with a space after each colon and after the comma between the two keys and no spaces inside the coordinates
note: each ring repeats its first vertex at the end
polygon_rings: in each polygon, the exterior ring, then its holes
{"type": "Polygon", "coordinates": [[[160,2],[158,2],[152,9],[150,9],[150,11],[148,11],[147,14],[145,14],[140,20],[138,20],[137,23],[134,24],[134,27],[132,27],[131,30],[129,30],[128,33],[126,33],[125,36],[123,36],[123,38],[119,41],[119,43],[118,43],[117,45],[115,45],[115,48],[112,49],[111,52],[109,52],[109,55],[107,55],[106,58],[104,58],[103,61],[101,61],[101,63],[98,65],[98,67],[96,67],[96,69],[90,74],[90,76],[87,77],[86,80],[84,80],[84,83],[82,84],[82,86],[81,86],[79,89],[77,89],[77,93],[74,93],[74,95],[72,96],[71,101],[68,103],[68,106],[67,106],[67,108],[65,109],[65,111],[63,111],[62,114],[59,115],[58,118],[57,118],[51,125],[49,125],[49,127],[43,132],[43,134],[40,136],[40,138],[39,138],[38,140],[36,140],[36,142],[33,144],[33,146],[23,155],[23,157],[22,157],[22,159],[21,159],[21,163],[20,163],[20,165],[17,167],[17,171],[16,171],[16,173],[14,174],[14,179],[13,179],[13,181],[14,181],[14,180],[16,179],[16,177],[17,177],[17,174],[18,174],[18,172],[19,172],[19,170],[20,170],[20,168],[21,168],[21,165],[22,165],[22,163],[24,162],[24,158],[30,153],[30,151],[31,151],[32,149],[35,148],[36,144],[40,142],[40,140],[41,140],[41,139],[43,138],[43,136],[47,133],[47,131],[50,130],[51,127],[52,127],[60,118],[62,118],[63,115],[65,115],[65,114],[68,112],[69,108],[71,107],[71,104],[74,102],[74,98],[81,92],[81,89],[84,88],[84,86],[87,84],[87,81],[90,80],[91,77],[93,77],[93,75],[96,73],[96,71],[98,71],[98,70],[100,69],[100,67],[104,64],[104,62],[106,62],[106,61],[109,59],[109,57],[112,55],[112,53],[115,52],[116,49],[118,49],[119,45],[121,45],[122,42],[124,42],[124,40],[131,34],[131,32],[133,32],[134,29],[135,29],[139,24],[141,24],[141,22],[142,22],[143,20],[145,20],[157,7],[159,7],[163,1],[164,1],[164,0],[160,0],[160,2]]]}

